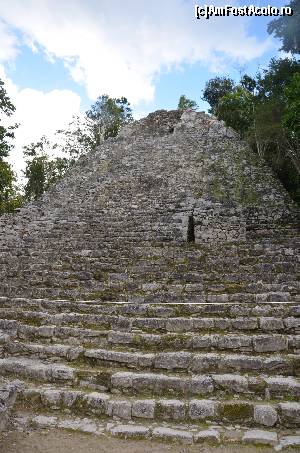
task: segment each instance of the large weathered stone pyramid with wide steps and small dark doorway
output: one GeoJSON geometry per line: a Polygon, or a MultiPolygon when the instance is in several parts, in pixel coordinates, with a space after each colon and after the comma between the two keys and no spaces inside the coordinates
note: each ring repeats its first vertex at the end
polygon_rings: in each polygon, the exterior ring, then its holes
{"type": "Polygon", "coordinates": [[[2,424],[300,445],[298,220],[215,118],[123,128],[0,219],[2,424]]]}

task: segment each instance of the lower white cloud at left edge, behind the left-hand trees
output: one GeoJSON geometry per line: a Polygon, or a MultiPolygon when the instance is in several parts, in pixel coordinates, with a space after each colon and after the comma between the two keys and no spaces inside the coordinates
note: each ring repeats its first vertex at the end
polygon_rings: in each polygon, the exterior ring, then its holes
{"type": "Polygon", "coordinates": [[[0,66],[0,78],[5,82],[7,93],[16,107],[9,123],[19,123],[15,132],[15,149],[9,156],[15,171],[24,169],[23,146],[36,142],[42,135],[50,139],[57,129],[67,127],[73,115],[80,113],[80,97],[70,90],[43,92],[31,88],[19,89],[5,75],[0,66]]]}

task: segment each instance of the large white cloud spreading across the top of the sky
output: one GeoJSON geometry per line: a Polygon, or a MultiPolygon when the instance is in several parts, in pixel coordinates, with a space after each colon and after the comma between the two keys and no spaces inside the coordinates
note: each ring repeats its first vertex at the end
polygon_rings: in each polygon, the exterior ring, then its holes
{"type": "Polygon", "coordinates": [[[91,99],[125,95],[133,104],[153,99],[164,69],[196,61],[217,69],[271,46],[248,34],[246,18],[196,20],[192,0],[0,0],[0,16],[23,42],[62,59],[91,99]]]}

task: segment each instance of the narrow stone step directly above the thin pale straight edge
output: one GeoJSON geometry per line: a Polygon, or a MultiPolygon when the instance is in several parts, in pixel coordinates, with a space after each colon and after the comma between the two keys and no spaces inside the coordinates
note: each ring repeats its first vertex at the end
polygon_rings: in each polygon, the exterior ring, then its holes
{"type": "Polygon", "coordinates": [[[8,297],[27,297],[27,298],[55,298],[55,299],[87,299],[87,300],[110,300],[117,301],[120,299],[136,303],[190,303],[191,300],[196,302],[247,302],[247,303],[265,303],[265,302],[298,302],[300,295],[293,289],[284,292],[263,291],[263,292],[233,292],[233,293],[209,293],[206,290],[191,292],[186,291],[186,284],[181,283],[166,285],[164,290],[142,291],[134,285],[133,289],[127,287],[126,283],[102,285],[96,280],[80,281],[71,280],[65,282],[41,281],[35,286],[28,284],[30,280],[24,280],[20,284],[19,279],[11,283],[3,283],[1,287],[2,296],[8,297]]]}

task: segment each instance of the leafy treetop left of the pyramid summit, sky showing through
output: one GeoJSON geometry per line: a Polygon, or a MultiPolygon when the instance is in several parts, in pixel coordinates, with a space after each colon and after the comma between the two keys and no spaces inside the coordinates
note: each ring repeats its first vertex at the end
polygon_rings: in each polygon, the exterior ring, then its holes
{"type": "Polygon", "coordinates": [[[98,97],[95,104],[86,112],[86,116],[92,121],[96,146],[109,137],[116,137],[123,125],[133,121],[127,99],[110,98],[106,94],[98,97]]]}

